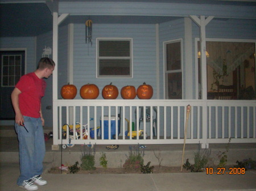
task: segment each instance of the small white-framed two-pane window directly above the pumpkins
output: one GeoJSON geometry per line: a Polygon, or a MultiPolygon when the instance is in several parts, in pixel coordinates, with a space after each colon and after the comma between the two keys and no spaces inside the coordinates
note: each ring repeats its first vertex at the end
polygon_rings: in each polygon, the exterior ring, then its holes
{"type": "Polygon", "coordinates": [[[132,78],[132,39],[97,39],[97,78],[132,78]]]}

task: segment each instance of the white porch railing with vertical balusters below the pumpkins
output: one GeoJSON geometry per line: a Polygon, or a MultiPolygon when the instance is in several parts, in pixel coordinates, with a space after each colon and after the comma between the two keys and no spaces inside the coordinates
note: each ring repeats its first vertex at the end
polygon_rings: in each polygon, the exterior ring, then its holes
{"type": "MultiPolygon", "coordinates": [[[[226,143],[230,137],[232,143],[256,142],[255,100],[55,100],[53,145],[183,143],[188,104],[191,112],[186,143],[200,142],[205,147],[226,143]],[[87,124],[90,133],[97,136],[69,139],[68,130],[63,136],[63,125],[77,122],[87,124]],[[135,136],[127,136],[133,130],[135,136]],[[147,137],[139,136],[140,130],[147,137]]],[[[75,125],[71,129],[76,131],[75,125]]],[[[82,134],[82,128],[77,134],[82,134]]]]}

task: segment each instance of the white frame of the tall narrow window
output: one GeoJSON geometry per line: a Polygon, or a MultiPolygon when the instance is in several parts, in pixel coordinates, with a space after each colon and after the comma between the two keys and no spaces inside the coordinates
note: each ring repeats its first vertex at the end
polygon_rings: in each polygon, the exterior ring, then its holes
{"type": "Polygon", "coordinates": [[[174,40],[168,40],[163,42],[163,61],[164,61],[164,67],[163,67],[163,77],[164,77],[164,99],[169,99],[168,97],[168,84],[167,84],[167,76],[166,74],[170,73],[181,73],[181,80],[182,80],[182,99],[184,97],[184,81],[183,81],[183,39],[174,39],[174,40]],[[180,43],[180,70],[169,70],[167,71],[167,61],[166,61],[166,45],[170,43],[180,43]]]}

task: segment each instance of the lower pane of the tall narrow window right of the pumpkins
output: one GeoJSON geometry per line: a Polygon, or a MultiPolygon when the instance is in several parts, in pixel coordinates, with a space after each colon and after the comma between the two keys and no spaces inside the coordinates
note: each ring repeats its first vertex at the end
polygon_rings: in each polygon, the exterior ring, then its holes
{"type": "Polygon", "coordinates": [[[182,73],[167,74],[168,99],[182,99],[182,73]]]}

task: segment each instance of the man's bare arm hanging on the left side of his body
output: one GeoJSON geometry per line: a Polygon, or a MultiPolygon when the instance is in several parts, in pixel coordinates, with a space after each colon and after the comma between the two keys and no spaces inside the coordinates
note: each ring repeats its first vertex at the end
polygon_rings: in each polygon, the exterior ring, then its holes
{"type": "Polygon", "coordinates": [[[18,125],[24,125],[24,118],[19,109],[19,94],[21,91],[18,88],[14,88],[13,92],[11,92],[11,103],[13,103],[13,108],[15,111],[15,122],[18,125]]]}

